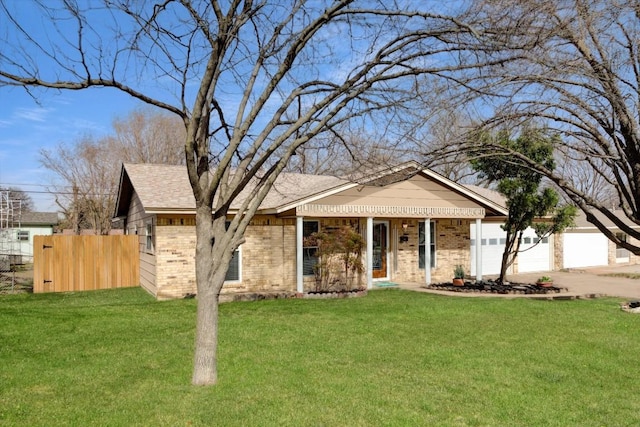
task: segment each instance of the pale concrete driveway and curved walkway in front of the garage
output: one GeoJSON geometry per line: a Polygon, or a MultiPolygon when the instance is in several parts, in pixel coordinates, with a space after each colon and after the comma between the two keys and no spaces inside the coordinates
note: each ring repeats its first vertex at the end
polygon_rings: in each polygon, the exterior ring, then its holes
{"type": "Polygon", "coordinates": [[[410,289],[418,292],[428,292],[441,295],[461,297],[502,297],[502,298],[594,298],[599,296],[621,297],[631,300],[640,300],[640,279],[627,279],[622,277],[610,277],[607,274],[637,273],[640,275],[640,265],[605,266],[589,269],[575,269],[570,271],[551,271],[542,273],[523,273],[508,276],[511,282],[535,283],[542,276],[547,275],[553,279],[554,286],[567,288],[567,292],[543,295],[501,295],[485,294],[480,292],[447,292],[425,289],[421,284],[400,284],[402,289],[410,289]]]}

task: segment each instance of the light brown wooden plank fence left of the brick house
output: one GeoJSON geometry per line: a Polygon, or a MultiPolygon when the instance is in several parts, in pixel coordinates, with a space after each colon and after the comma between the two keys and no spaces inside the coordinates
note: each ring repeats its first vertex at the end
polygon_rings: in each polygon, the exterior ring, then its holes
{"type": "Polygon", "coordinates": [[[33,292],[140,285],[138,236],[34,236],[33,292]]]}

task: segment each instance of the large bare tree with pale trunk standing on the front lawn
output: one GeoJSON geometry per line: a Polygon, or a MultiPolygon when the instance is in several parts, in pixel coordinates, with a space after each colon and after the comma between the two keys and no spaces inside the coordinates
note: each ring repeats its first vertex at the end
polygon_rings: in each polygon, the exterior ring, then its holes
{"type": "Polygon", "coordinates": [[[43,39],[15,3],[1,3],[12,31],[3,32],[0,85],[110,87],[181,118],[196,203],[192,381],[203,385],[217,381],[218,297],[229,261],[290,158],[355,118],[385,126],[415,96],[416,77],[447,78],[452,46],[475,34],[430,2],[60,3],[29,10],[45,18],[43,39]],[[228,218],[232,205],[237,214],[228,218]]]}

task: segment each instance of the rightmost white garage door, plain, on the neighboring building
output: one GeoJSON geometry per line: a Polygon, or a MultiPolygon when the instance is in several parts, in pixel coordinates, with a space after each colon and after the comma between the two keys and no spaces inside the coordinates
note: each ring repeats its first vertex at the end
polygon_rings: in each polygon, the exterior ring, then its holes
{"type": "Polygon", "coordinates": [[[594,267],[608,264],[609,241],[602,233],[564,233],[563,267],[594,267]]]}

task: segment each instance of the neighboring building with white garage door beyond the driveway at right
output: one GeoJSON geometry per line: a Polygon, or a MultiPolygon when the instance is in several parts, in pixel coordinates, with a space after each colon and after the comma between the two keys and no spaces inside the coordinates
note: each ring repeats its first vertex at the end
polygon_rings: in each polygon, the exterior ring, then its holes
{"type": "MultiPolygon", "coordinates": [[[[612,211],[627,226],[640,230],[640,226],[633,224],[622,211],[612,211]]],[[[594,215],[613,231],[621,240],[639,245],[634,240],[605,217],[601,212],[594,211],[594,215]]],[[[579,211],[575,219],[575,227],[565,230],[558,236],[556,245],[556,268],[584,268],[618,264],[637,264],[639,257],[630,253],[627,249],[616,246],[607,239],[598,228],[587,222],[584,212],[579,211]]]]}

